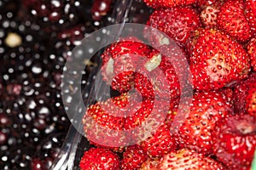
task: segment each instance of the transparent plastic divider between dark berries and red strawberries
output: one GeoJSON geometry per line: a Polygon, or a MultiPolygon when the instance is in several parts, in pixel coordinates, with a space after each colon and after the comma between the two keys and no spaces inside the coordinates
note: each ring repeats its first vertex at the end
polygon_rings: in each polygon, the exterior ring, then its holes
{"type": "MultiPolygon", "coordinates": [[[[114,4],[113,7],[113,14],[112,14],[112,20],[109,22],[109,25],[113,24],[125,24],[128,20],[128,16],[130,13],[131,5],[133,3],[133,0],[121,0],[117,1],[114,4]]],[[[116,32],[116,35],[113,37],[114,39],[117,39],[119,35],[122,32],[122,25],[119,26],[119,32],[116,32]]],[[[109,39],[109,42],[113,42],[113,39],[109,39]]],[[[100,44],[99,44],[100,45],[100,44]]],[[[100,54],[101,53],[96,53],[96,61],[98,64],[100,64],[100,54]]],[[[96,94],[95,94],[95,76],[97,72],[99,71],[101,65],[98,65],[96,68],[94,68],[92,71],[90,71],[90,75],[87,79],[88,84],[86,84],[85,88],[82,91],[82,97],[84,98],[85,107],[92,104],[96,100],[96,94]]],[[[79,80],[81,81],[81,80],[79,80]]],[[[97,84],[97,88],[106,88],[106,85],[104,82],[100,82],[101,84],[97,84]]],[[[106,91],[106,90],[103,90],[106,91]]],[[[104,97],[104,94],[102,95],[104,97]]],[[[74,106],[75,108],[73,109],[74,116],[73,120],[80,120],[80,122],[73,122],[73,123],[78,123],[76,127],[79,127],[80,129],[83,128],[82,125],[82,115],[84,115],[83,109],[74,106]]],[[[64,140],[64,143],[62,144],[61,150],[59,152],[58,157],[55,159],[53,165],[51,166],[51,170],[75,170],[79,169],[77,167],[77,164],[75,163],[76,156],[81,154],[77,154],[78,147],[80,142],[84,139],[84,136],[78,132],[78,129],[73,127],[73,125],[70,126],[66,139],[64,140]]],[[[89,144],[86,145],[86,147],[90,147],[89,144]]]]}

